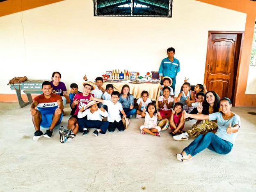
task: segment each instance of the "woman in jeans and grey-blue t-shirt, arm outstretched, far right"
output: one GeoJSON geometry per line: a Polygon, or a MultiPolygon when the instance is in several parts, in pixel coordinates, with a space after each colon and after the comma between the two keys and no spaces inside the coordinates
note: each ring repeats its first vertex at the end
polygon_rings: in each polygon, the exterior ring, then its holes
{"type": "Polygon", "coordinates": [[[180,154],[177,154],[177,159],[180,161],[191,160],[194,155],[208,148],[219,154],[227,154],[232,150],[235,142],[235,137],[240,128],[240,117],[231,112],[231,101],[229,98],[222,98],[219,102],[221,112],[216,112],[209,115],[204,114],[187,114],[183,111],[184,118],[208,119],[217,120],[218,130],[214,133],[199,135],[194,141],[187,146],[180,154]]]}

